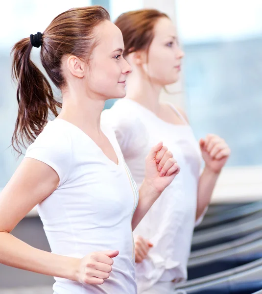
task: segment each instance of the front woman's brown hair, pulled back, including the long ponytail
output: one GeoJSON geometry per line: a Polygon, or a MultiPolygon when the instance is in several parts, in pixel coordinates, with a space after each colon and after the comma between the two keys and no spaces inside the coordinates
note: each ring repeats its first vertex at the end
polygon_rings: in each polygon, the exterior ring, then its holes
{"type": "MultiPolygon", "coordinates": [[[[42,36],[41,62],[49,78],[58,88],[66,86],[62,72],[62,59],[75,55],[89,60],[97,42],[94,28],[109,13],[101,6],[72,8],[59,14],[48,25],[42,36]]],[[[22,154],[21,147],[34,142],[48,120],[48,111],[58,115],[62,104],[53,97],[47,78],[31,61],[32,44],[24,38],[13,47],[12,77],[18,81],[18,118],[12,137],[12,146],[22,154]]]]}

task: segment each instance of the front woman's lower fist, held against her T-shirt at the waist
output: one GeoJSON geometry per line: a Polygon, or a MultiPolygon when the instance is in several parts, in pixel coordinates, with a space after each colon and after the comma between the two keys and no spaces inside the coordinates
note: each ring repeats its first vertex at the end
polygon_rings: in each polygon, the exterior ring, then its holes
{"type": "Polygon", "coordinates": [[[109,278],[113,259],[119,251],[93,252],[79,260],[76,269],[76,280],[82,284],[101,285],[109,278]]]}

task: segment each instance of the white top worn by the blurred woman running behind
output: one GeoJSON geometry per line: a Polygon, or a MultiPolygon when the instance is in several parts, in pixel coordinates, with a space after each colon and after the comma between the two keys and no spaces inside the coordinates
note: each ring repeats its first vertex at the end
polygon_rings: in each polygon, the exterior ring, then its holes
{"type": "Polygon", "coordinates": [[[126,98],[119,99],[102,113],[102,121],[111,124],[116,132],[126,164],[138,186],[144,178],[144,159],[150,148],[160,141],[181,167],[134,231],[134,235],[153,243],[148,258],[136,264],[139,292],[158,281],[187,279],[201,152],[190,125],[183,120],[182,125],[166,123],[141,104],[126,98]]]}

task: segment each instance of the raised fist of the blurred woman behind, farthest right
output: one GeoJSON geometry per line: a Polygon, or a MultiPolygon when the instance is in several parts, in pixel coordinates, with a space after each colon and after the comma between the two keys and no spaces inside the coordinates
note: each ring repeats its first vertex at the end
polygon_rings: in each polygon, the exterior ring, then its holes
{"type": "Polygon", "coordinates": [[[200,139],[199,146],[206,168],[211,172],[219,173],[231,153],[225,140],[217,135],[209,134],[205,139],[200,139]]]}

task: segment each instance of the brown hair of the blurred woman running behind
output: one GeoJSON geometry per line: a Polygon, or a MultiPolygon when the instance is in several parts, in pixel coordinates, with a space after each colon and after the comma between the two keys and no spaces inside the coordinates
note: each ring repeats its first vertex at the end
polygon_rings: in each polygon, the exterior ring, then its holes
{"type": "Polygon", "coordinates": [[[140,49],[148,51],[154,39],[154,26],[156,22],[167,17],[167,14],[156,9],[140,9],[121,14],[115,21],[124,39],[124,53],[136,52],[140,49]]]}

